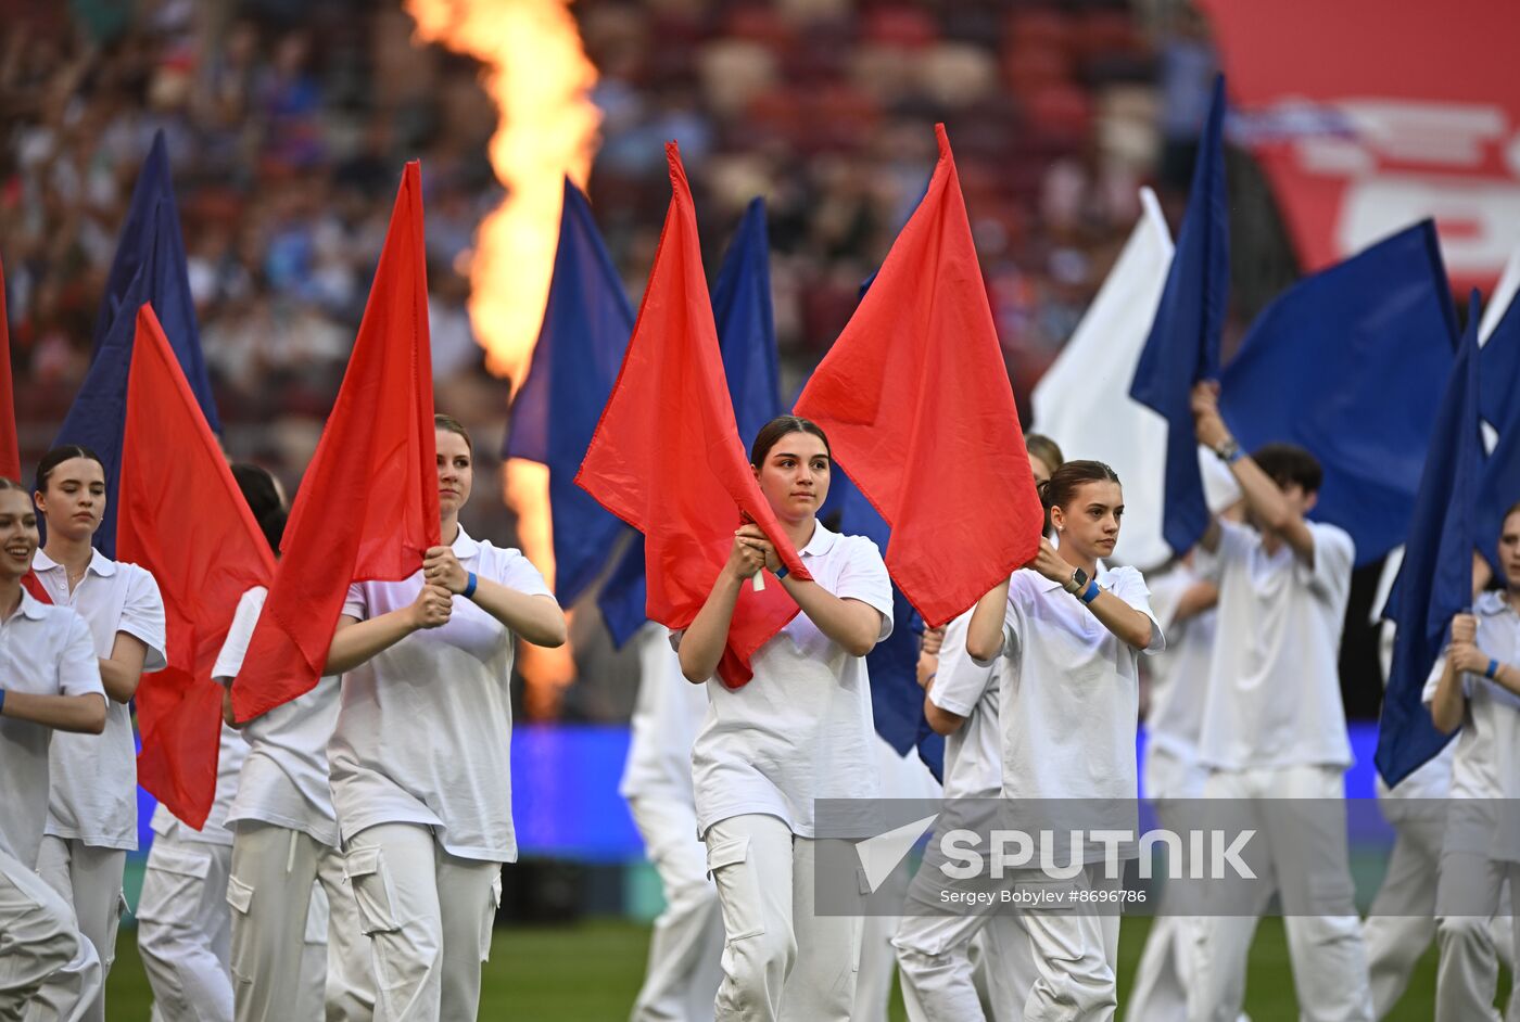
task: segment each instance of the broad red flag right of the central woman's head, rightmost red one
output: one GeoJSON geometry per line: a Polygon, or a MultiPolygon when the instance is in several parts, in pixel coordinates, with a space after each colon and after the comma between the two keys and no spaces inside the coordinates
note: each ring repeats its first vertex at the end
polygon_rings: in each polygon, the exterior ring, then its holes
{"type": "Polygon", "coordinates": [[[929,191],[796,413],[892,527],[886,566],[930,627],[1040,548],[1041,509],[944,125],[929,191]]]}

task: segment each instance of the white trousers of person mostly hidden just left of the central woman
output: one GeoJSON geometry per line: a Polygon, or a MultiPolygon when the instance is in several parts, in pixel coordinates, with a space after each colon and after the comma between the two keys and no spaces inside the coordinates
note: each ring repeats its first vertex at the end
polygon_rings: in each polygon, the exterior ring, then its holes
{"type": "Polygon", "coordinates": [[[628,808],[666,899],[649,937],[649,964],[632,1022],[711,1019],[724,978],[724,914],[696,840],[696,808],[673,793],[637,796],[628,808]]]}

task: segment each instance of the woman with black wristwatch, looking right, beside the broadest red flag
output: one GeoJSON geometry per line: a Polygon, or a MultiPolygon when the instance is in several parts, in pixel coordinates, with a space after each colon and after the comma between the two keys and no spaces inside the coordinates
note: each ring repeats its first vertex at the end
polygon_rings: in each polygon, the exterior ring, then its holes
{"type": "MultiPolygon", "coordinates": [[[[1040,495],[1059,547],[1041,539],[1040,553],[1024,569],[977,601],[965,636],[965,650],[977,664],[1005,658],[999,714],[1002,796],[1026,808],[1090,806],[1072,809],[1082,829],[1132,834],[1138,656],[1164,648],[1164,639],[1142,574],[1102,565],[1114,550],[1123,516],[1114,471],[1100,462],[1067,462],[1040,495]]],[[[1028,831],[1044,829],[1029,820],[1023,825],[1028,831]]],[[[1135,856],[1134,844],[1119,846],[1119,852],[1135,856]]],[[[1072,853],[1082,855],[1084,867],[1066,887],[1113,885],[1104,878],[1102,849],[1091,841],[1061,847],[1053,861],[1064,866],[1072,853]]],[[[1014,870],[1015,891],[1050,885],[1052,878],[1040,869],[1014,870]]],[[[1113,1017],[1119,908],[1117,902],[1055,911],[1021,908],[1026,943],[1012,954],[1028,955],[1017,964],[1034,975],[1021,1005],[1026,1017],[1113,1017]]],[[[970,940],[973,932],[968,929],[962,938],[970,940]]],[[[953,948],[941,954],[950,955],[953,948]]],[[[918,995],[930,1019],[982,1017],[970,984],[924,987],[918,995]]]]}

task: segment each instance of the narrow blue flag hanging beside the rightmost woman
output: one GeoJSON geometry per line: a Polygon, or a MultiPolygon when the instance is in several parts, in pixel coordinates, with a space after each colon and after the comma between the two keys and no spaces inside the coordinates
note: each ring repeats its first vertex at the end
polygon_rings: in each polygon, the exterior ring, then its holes
{"type": "Polygon", "coordinates": [[[1473,604],[1473,501],[1482,472],[1477,422],[1477,292],[1435,418],[1404,562],[1394,583],[1394,664],[1377,729],[1377,771],[1395,785],[1452,740],[1420,699],[1452,617],[1473,604]]]}

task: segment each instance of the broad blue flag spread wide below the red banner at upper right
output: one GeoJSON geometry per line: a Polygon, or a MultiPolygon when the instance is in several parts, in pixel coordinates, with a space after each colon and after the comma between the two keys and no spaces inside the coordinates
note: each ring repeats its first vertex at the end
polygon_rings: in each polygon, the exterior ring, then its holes
{"type": "Polygon", "coordinates": [[[1307,276],[1251,325],[1221,381],[1240,445],[1297,443],[1324,466],[1310,518],[1356,541],[1357,565],[1404,541],[1456,311],[1424,220],[1307,276]]]}

